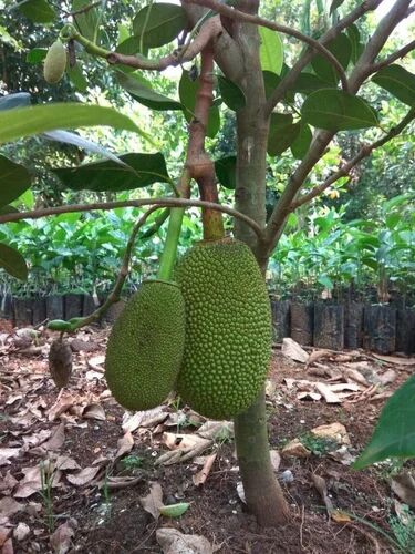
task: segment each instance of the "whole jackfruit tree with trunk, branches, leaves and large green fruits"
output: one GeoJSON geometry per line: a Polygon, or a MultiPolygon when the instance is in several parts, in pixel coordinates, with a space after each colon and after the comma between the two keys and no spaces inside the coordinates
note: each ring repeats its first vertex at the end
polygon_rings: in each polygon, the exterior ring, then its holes
{"type": "MultiPolygon", "coordinates": [[[[105,10],[111,9],[105,2],[74,1],[72,11],[58,13],[55,3],[44,1],[43,8],[49,10],[41,14],[35,4],[21,2],[18,9],[38,23],[55,23],[50,27],[49,52],[38,49],[32,53],[37,61],[45,57],[46,81],[66,79],[65,65],[75,88],[82,89],[86,82],[85,94],[87,75],[82,65],[96,64],[107,72],[108,83],[139,104],[174,114],[177,124],[184,115],[188,123],[186,158],[176,183],[164,155],[154,153],[156,137],[133,117],[92,103],[31,106],[30,94],[4,95],[0,99],[0,145],[40,133],[79,145],[79,136],[56,135],[53,130],[108,125],[137,133],[153,153],[116,157],[102,147],[96,150],[95,144],[94,152],[107,160],[61,167],[55,174],[69,189],[115,196],[94,204],[22,213],[9,204],[31,186],[30,175],[0,156],[2,175],[19,173],[15,191],[0,189],[0,223],[151,206],[132,229],[113,293],[91,317],[52,322],[63,334],[91,322],[118,298],[134,240],[148,235],[146,230],[138,234],[146,217],[163,209],[153,223],[157,229],[170,219],[158,279],[143,286],[114,326],[107,351],[110,388],[131,409],[163,402],[176,389],[206,417],[235,418],[248,507],[262,525],[283,523],[290,511],[271,468],[267,435],[264,379],[271,322],[264,273],[291,214],[338,185],[347,186],[357,164],[375,148],[409,133],[415,117],[415,74],[406,66],[415,41],[405,41],[397,28],[414,7],[411,0],[388,2],[373,23],[382,0],[304,2],[298,30],[281,21],[278,6],[260,0],[149,1],[137,9],[131,27],[121,21],[117,39],[105,32],[105,10]],[[262,17],[271,12],[272,19],[262,17]],[[162,94],[151,82],[152,72],[167,68],[181,68],[175,98],[162,94]],[[382,91],[377,105],[365,100],[373,88],[382,91]],[[407,110],[404,117],[391,123],[384,112],[392,98],[407,110]],[[227,112],[235,121],[234,154],[214,160],[211,138],[227,112]],[[336,142],[343,132],[360,133],[360,147],[347,160],[336,142]],[[335,162],[317,181],[328,153],[335,162]],[[270,185],[269,164],[287,156],[291,156],[288,181],[279,182],[277,176],[270,185]],[[235,189],[235,207],[219,203],[218,182],[235,189]],[[116,197],[154,184],[165,184],[168,193],[116,197]],[[276,192],[268,211],[267,185],[276,192]],[[181,217],[190,206],[201,209],[204,240],[176,264],[181,217]],[[162,305],[168,305],[167,314],[160,314],[162,305]]],[[[177,73],[172,74],[175,88],[177,73]]],[[[91,143],[81,144],[91,147],[91,143]]],[[[0,265],[25,278],[27,266],[19,253],[6,244],[0,252],[0,265]]]]}

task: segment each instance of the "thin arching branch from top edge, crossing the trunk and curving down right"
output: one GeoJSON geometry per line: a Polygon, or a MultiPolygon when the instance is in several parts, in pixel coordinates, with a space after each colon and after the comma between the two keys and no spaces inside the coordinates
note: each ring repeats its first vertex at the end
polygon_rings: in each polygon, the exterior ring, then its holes
{"type": "Polygon", "coordinates": [[[234,8],[226,6],[225,3],[218,2],[217,0],[184,0],[184,2],[196,3],[197,6],[204,6],[205,8],[210,8],[217,13],[221,13],[222,16],[226,16],[229,19],[236,19],[238,21],[245,21],[246,23],[267,27],[272,31],[278,31],[289,37],[294,37],[295,39],[311,47],[313,50],[320,52],[335,68],[336,72],[339,73],[340,80],[342,82],[343,90],[347,91],[347,78],[346,74],[344,73],[342,64],[339,62],[335,55],[333,55],[330,52],[330,50],[328,50],[323,44],[312,39],[311,37],[308,37],[307,34],[303,34],[302,32],[297,31],[295,29],[291,29],[288,25],[273,23],[272,21],[260,18],[259,16],[252,16],[250,13],[236,10],[234,8]]]}

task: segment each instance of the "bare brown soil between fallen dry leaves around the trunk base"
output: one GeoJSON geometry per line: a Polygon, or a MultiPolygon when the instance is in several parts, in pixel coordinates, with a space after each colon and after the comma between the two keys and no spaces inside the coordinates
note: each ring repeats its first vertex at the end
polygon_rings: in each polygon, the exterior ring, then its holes
{"type": "MultiPolygon", "coordinates": [[[[50,407],[58,394],[45,372],[46,361],[43,356],[43,358],[38,358],[38,361],[30,360],[31,371],[44,371],[41,387],[33,392],[29,391],[21,401],[6,406],[8,394],[11,393],[10,389],[14,391],[15,388],[14,384],[10,387],[10,376],[13,377],[13,370],[21,371],[22,368],[28,367],[29,361],[18,350],[9,351],[4,356],[2,369],[8,379],[6,381],[1,379],[0,368],[0,413],[2,414],[0,448],[13,445],[13,442],[19,441],[21,428],[13,424],[10,418],[21,408],[21,402],[28,398],[38,400],[42,398],[45,406],[50,407]],[[9,389],[3,388],[2,391],[2,383],[7,383],[9,389]]],[[[76,356],[75,379],[82,376],[85,366],[85,356],[76,356]]],[[[96,356],[96,352],[93,356],[96,356]]],[[[304,378],[304,371],[303,366],[288,360],[276,350],[270,373],[271,380],[277,382],[277,400],[269,401],[270,447],[280,450],[288,440],[303,434],[313,427],[340,421],[350,434],[351,452],[357,453],[369,440],[384,400],[343,402],[341,406],[326,404],[323,401],[297,400],[297,397],[284,387],[283,379],[287,377],[304,378]]],[[[398,378],[391,386],[392,389],[407,378],[408,368],[398,368],[397,371],[398,378]]],[[[309,376],[307,378],[313,379],[309,376]]],[[[105,387],[100,381],[95,389],[102,392],[105,387]]],[[[85,427],[66,425],[65,442],[60,454],[70,455],[82,468],[91,465],[100,454],[114,453],[117,440],[123,434],[121,425],[124,410],[112,401],[105,401],[103,406],[105,421],[86,420],[85,427]]],[[[24,432],[55,427],[56,422],[49,422],[46,418],[43,418],[33,422],[24,432]]],[[[312,473],[326,480],[329,494],[335,507],[353,512],[366,522],[391,533],[388,519],[393,513],[391,507],[393,493],[388,475],[380,469],[356,472],[324,454],[311,455],[305,460],[282,458],[278,475],[280,476],[284,470],[291,470],[294,478],[291,484],[282,484],[286,497],[291,505],[292,517],[282,527],[262,530],[257,526],[255,519],[246,513],[245,505],[238,497],[237,482],[240,478],[235,471],[237,461],[231,443],[217,448],[218,456],[211,473],[205,485],[197,489],[191,482],[191,475],[195,472],[191,462],[155,466],[155,455],[163,452],[165,447],[154,441],[149,432],[138,437],[134,434],[134,437],[135,444],[131,454],[143,459],[141,468],[128,470],[128,473],[117,462],[112,474],[135,474],[142,480],[133,488],[111,492],[110,509],[106,509],[103,491],[96,486],[74,488],[64,482],[58,492],[53,492],[53,513],[59,516],[58,523],[68,521],[70,517],[76,520],[76,531],[69,552],[83,554],[160,553],[162,550],[156,542],[156,530],[160,526],[175,526],[183,533],[204,535],[221,554],[392,552],[387,541],[373,527],[359,521],[350,523],[329,521],[321,496],[311,480],[312,473]],[[151,481],[160,483],[165,503],[186,501],[190,502],[190,509],[178,520],[162,516],[158,521],[154,521],[138,502],[138,496],[148,492],[151,481]]],[[[0,468],[0,482],[8,470],[14,478],[20,479],[21,469],[33,465],[37,460],[39,458],[31,455],[30,452],[14,459],[11,465],[0,468]]],[[[41,497],[34,494],[22,502],[29,501],[39,503],[41,497]]],[[[31,529],[31,534],[24,541],[13,540],[14,553],[52,552],[44,506],[34,515],[19,512],[11,516],[10,521],[13,524],[25,522],[31,529]]]]}

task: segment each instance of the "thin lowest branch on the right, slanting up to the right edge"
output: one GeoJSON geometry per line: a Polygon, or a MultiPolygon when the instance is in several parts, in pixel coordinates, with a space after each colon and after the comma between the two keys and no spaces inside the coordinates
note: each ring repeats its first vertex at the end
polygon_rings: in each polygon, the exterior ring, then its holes
{"type": "Polygon", "coordinates": [[[315,186],[309,193],[303,194],[297,201],[292,202],[290,212],[294,212],[294,209],[302,206],[303,204],[308,204],[313,198],[323,193],[326,188],[329,188],[329,186],[335,183],[340,177],[344,177],[345,175],[347,175],[354,166],[356,166],[363,158],[370,156],[375,148],[383,146],[388,141],[397,136],[406,127],[406,125],[414,121],[414,119],[415,107],[412,107],[405,115],[405,117],[397,125],[392,127],[390,132],[386,133],[382,138],[378,138],[372,144],[365,144],[364,146],[362,146],[360,152],[354,157],[352,157],[352,160],[346,162],[339,171],[333,173],[333,175],[325,179],[324,183],[321,183],[321,185],[315,186]]]}

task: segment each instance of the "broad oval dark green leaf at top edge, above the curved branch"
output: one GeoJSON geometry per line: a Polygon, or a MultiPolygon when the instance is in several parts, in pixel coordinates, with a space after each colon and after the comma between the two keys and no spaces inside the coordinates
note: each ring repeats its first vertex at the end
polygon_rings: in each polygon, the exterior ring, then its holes
{"type": "Polygon", "coordinates": [[[180,6],[158,2],[139,10],[133,20],[133,30],[136,37],[141,37],[144,31],[144,45],[157,48],[172,42],[185,29],[186,23],[186,13],[180,6]]]}

